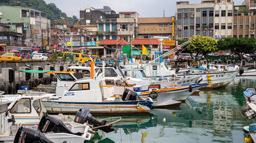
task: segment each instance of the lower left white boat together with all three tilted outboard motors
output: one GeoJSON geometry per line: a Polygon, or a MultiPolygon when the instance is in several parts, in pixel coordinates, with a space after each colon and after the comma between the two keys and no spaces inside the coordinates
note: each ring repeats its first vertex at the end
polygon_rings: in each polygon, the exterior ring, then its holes
{"type": "MultiPolygon", "coordinates": [[[[24,137],[22,134],[22,132],[28,131],[28,136],[30,136],[30,133],[35,136],[39,133],[40,137],[45,135],[42,140],[49,139],[49,142],[72,142],[72,140],[85,142],[94,137],[97,129],[106,133],[114,131],[112,128],[113,122],[106,124],[105,119],[99,121],[90,115],[89,110],[85,108],[79,109],[76,116],[51,116],[46,114],[42,99],[51,96],[52,94],[31,95],[27,93],[24,95],[1,95],[1,107],[9,105],[8,108],[4,108],[4,112],[1,111],[3,113],[1,114],[1,131],[3,133],[0,135],[0,140],[13,142],[20,137],[23,137],[24,141],[33,140],[30,137],[24,137]],[[83,120],[77,120],[77,118],[83,120]],[[42,133],[45,134],[42,135],[42,133]]],[[[114,122],[121,120],[120,117],[117,118],[119,119],[114,122]]]]}

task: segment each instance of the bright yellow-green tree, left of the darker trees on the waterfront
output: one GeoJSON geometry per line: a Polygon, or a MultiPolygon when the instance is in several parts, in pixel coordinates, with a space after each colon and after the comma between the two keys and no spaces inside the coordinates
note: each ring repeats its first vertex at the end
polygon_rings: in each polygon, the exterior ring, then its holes
{"type": "Polygon", "coordinates": [[[213,53],[218,50],[217,41],[210,37],[196,35],[196,37],[193,36],[190,39],[193,39],[193,41],[187,46],[187,50],[189,50],[190,53],[196,53],[196,61],[198,54],[206,55],[207,53],[213,53]]]}

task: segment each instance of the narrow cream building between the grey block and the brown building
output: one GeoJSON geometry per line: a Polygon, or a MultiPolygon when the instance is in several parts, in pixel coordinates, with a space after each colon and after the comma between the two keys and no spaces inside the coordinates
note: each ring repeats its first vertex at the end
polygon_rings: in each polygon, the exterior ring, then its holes
{"type": "Polygon", "coordinates": [[[214,37],[221,39],[232,37],[233,0],[214,0],[214,37]]]}

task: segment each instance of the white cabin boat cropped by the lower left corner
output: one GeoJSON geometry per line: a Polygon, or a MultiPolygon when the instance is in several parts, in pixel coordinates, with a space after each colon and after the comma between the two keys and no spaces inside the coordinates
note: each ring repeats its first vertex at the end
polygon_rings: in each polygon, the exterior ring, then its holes
{"type": "Polygon", "coordinates": [[[1,142],[85,142],[93,137],[95,131],[92,131],[91,125],[62,123],[56,117],[43,115],[45,109],[41,100],[46,97],[51,95],[1,95],[1,142]],[[44,120],[40,121],[40,118],[44,120]],[[46,123],[48,127],[45,127],[46,123]],[[27,133],[26,136],[24,133],[27,133]]]}

